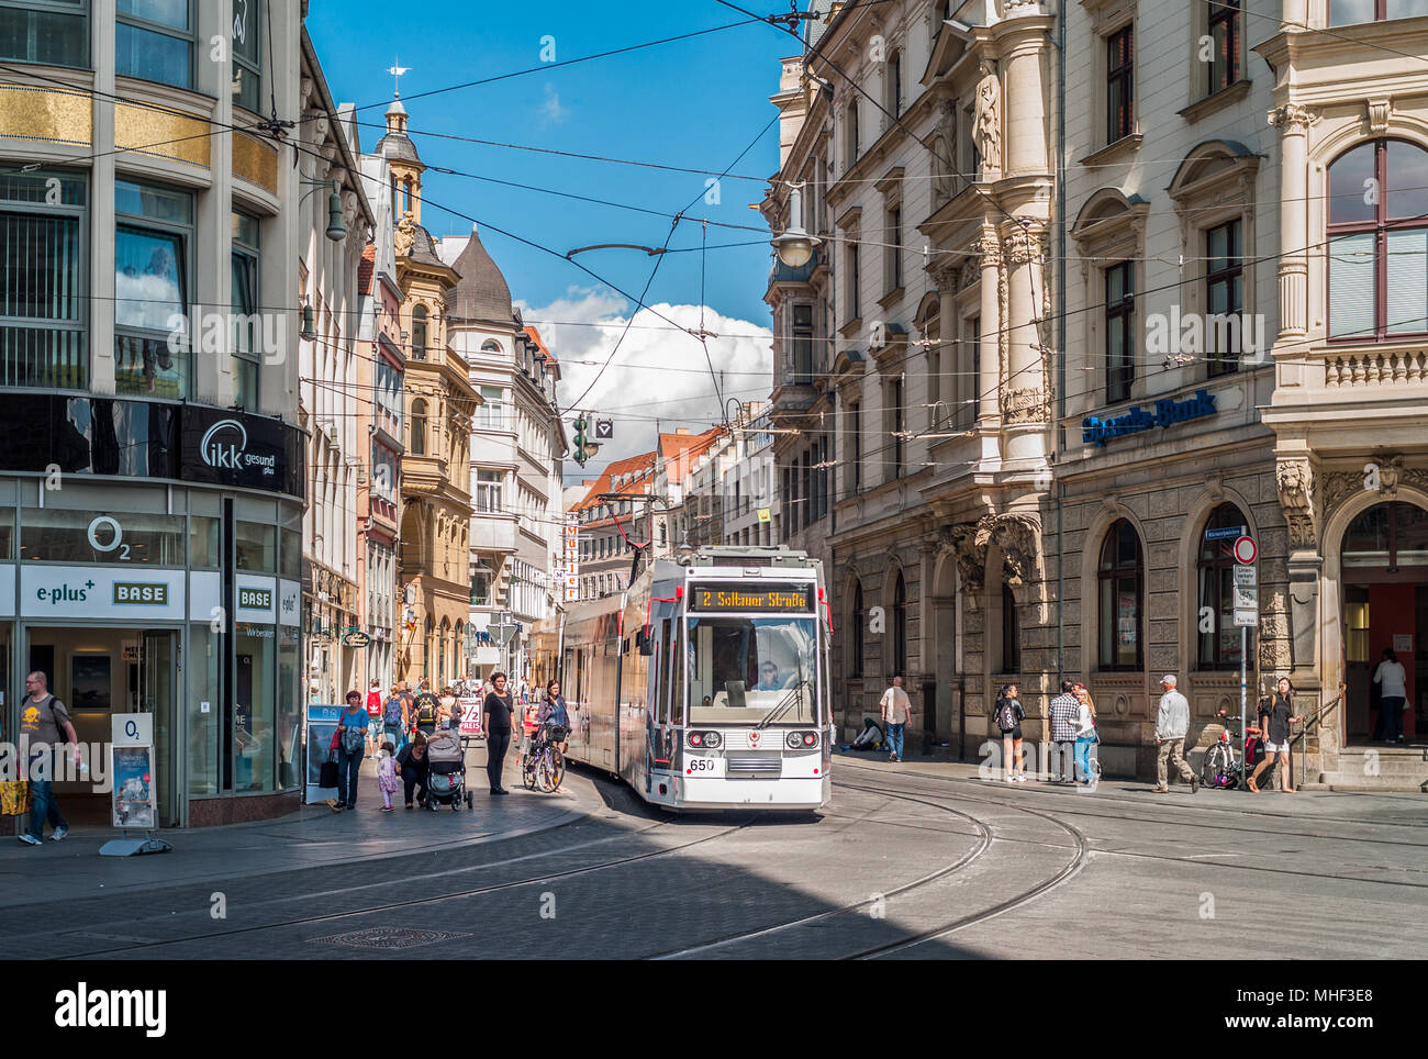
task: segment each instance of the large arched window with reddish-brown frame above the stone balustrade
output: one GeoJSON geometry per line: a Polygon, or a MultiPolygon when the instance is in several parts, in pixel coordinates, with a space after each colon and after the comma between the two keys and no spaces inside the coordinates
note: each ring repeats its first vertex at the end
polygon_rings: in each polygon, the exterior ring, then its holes
{"type": "Polygon", "coordinates": [[[1428,333],[1428,151],[1371,140],[1329,166],[1329,338],[1428,333]]]}

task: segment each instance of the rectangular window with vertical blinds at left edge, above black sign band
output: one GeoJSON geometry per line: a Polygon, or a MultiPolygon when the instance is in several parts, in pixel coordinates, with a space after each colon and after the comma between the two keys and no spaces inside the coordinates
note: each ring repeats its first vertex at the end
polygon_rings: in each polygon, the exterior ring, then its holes
{"type": "Polygon", "coordinates": [[[0,385],[89,387],[86,206],[81,176],[0,174],[0,385]]]}

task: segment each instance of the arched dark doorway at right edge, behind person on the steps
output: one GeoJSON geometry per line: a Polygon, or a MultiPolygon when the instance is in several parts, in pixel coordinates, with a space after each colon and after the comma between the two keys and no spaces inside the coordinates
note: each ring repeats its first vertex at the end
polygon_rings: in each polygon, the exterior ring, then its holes
{"type": "Polygon", "coordinates": [[[1388,651],[1404,667],[1404,738],[1428,745],[1428,511],[1394,501],[1349,524],[1342,599],[1347,744],[1384,738],[1382,684],[1374,674],[1388,651]]]}

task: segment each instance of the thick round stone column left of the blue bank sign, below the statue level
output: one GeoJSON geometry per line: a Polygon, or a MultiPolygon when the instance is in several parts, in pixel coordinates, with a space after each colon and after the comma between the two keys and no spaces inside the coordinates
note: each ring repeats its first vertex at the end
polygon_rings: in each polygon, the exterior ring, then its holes
{"type": "Polygon", "coordinates": [[[1021,220],[1004,228],[1007,258],[1007,381],[1001,391],[1008,460],[1045,458],[1047,391],[1041,353],[1041,227],[1021,220]]]}

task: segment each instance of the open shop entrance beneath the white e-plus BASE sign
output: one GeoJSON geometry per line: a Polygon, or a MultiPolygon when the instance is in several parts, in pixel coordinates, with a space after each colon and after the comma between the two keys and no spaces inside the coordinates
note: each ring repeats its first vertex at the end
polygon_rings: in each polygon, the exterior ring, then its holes
{"type": "MultiPolygon", "coordinates": [[[[30,627],[27,669],[47,678],[50,692],[69,706],[81,744],[104,748],[114,714],[153,714],[154,779],[160,826],[180,824],[180,764],[176,754],[178,699],[177,629],[110,627],[30,627]]],[[[109,761],[90,761],[90,775],[107,774],[109,761]]],[[[54,792],[70,824],[109,826],[110,796],[93,782],[57,782],[54,792]]]]}

